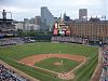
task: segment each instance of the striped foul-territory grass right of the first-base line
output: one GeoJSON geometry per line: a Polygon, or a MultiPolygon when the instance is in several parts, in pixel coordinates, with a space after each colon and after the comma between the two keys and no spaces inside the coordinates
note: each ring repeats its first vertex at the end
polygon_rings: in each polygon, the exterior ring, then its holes
{"type": "Polygon", "coordinates": [[[89,62],[82,66],[81,69],[78,69],[73,81],[90,81],[93,71],[97,65],[98,58],[97,56],[92,57],[89,62]],[[82,77],[83,76],[83,77],[82,77]]]}

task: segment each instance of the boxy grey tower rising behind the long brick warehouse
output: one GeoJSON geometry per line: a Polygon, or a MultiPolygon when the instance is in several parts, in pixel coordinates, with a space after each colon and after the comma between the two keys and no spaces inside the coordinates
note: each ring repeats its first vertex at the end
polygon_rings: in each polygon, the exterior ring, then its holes
{"type": "Polygon", "coordinates": [[[87,21],[87,10],[86,9],[80,9],[79,10],[79,21],[87,21]]]}

